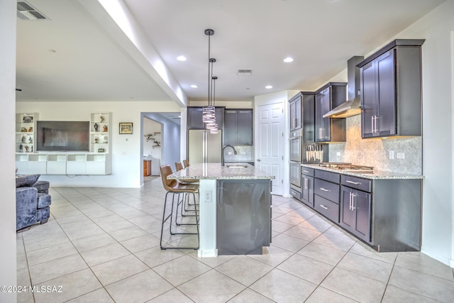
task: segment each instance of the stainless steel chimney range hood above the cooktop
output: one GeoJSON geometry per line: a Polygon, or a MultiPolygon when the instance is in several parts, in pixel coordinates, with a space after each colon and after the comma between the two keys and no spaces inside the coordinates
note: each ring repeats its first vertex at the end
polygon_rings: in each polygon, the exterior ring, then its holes
{"type": "Polygon", "coordinates": [[[354,56],[347,61],[348,100],[328,111],[323,118],[347,118],[361,114],[360,68],[356,65],[363,59],[362,56],[354,56]]]}

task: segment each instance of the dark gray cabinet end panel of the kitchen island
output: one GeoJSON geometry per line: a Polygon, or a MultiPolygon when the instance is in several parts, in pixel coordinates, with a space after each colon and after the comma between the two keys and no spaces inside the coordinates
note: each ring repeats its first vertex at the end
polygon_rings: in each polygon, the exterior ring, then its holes
{"type": "Polygon", "coordinates": [[[261,255],[271,242],[271,181],[220,180],[218,255],[261,255]]]}

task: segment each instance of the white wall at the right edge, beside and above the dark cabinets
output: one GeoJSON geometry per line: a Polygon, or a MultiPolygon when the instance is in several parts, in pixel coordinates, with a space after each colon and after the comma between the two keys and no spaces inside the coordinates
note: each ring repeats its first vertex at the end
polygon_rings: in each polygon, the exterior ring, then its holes
{"type": "Polygon", "coordinates": [[[423,68],[423,245],[421,251],[454,268],[453,31],[448,0],[396,38],[425,38],[423,68]]]}

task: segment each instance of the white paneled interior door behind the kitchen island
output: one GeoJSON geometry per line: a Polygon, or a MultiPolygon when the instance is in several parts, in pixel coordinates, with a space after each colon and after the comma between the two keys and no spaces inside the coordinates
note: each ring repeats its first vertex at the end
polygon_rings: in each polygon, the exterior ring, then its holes
{"type": "Polygon", "coordinates": [[[258,106],[255,166],[275,176],[272,194],[284,194],[284,104],[258,106]]]}

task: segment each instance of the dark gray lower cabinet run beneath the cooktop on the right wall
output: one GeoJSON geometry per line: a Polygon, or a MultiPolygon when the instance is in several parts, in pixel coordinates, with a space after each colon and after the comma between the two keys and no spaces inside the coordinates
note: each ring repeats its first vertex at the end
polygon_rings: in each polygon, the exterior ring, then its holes
{"type": "Polygon", "coordinates": [[[417,251],[421,189],[421,179],[366,179],[314,170],[314,205],[304,202],[311,195],[304,192],[304,181],[301,201],[377,251],[417,251]]]}

